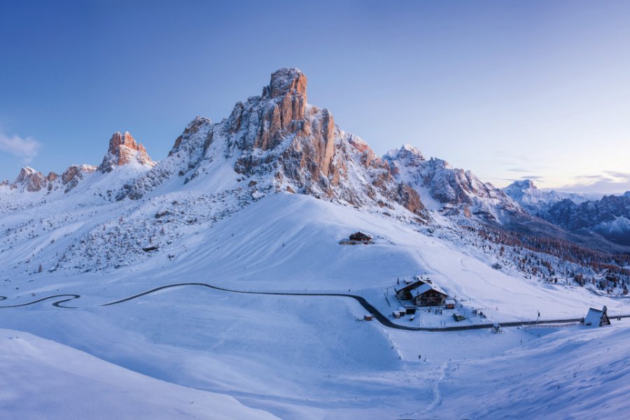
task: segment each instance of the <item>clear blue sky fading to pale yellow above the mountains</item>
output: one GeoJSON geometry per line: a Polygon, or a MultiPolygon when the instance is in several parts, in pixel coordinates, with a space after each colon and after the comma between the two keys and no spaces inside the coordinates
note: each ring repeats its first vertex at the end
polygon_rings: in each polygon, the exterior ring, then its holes
{"type": "Polygon", "coordinates": [[[402,144],[503,187],[630,190],[630,1],[0,0],[0,180],[154,160],[272,71],[376,153],[402,144]]]}

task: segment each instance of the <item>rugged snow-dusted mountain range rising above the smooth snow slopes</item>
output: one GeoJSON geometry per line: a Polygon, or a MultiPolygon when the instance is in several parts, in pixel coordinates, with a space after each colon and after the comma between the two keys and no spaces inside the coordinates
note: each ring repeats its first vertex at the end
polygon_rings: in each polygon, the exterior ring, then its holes
{"type": "MultiPolygon", "coordinates": [[[[238,102],[218,123],[195,118],[158,163],[129,132],[117,132],[99,167],[73,165],[61,176],[22,169],[14,183],[0,186],[0,211],[51,208],[54,202],[59,211],[46,223],[59,233],[51,240],[71,232],[75,240],[42,253],[43,265],[100,270],[150,259],[146,250],[173,248],[198,226],[281,192],[417,225],[489,223],[602,248],[597,238],[571,236],[532,217],[503,190],[444,160],[426,160],[412,146],[379,158],[337,127],[328,109],[307,103],[307,78],[298,69],[272,73],[260,96],[238,102]],[[86,207],[93,209],[88,222],[86,207]],[[432,215],[447,219],[438,223],[432,215]]],[[[10,243],[19,238],[19,230],[10,231],[10,243]]]]}

